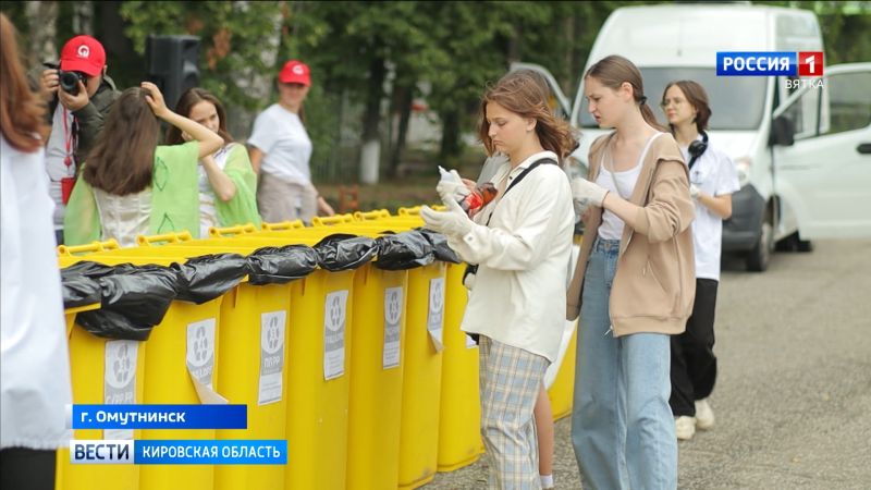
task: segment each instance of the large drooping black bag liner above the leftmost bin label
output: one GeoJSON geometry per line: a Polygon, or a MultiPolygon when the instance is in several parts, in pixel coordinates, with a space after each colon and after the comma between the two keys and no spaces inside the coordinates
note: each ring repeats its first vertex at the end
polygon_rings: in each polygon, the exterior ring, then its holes
{"type": "Polygon", "coordinates": [[[176,294],[176,271],[163,266],[115,266],[98,280],[100,309],[82,311],[76,323],[94,335],[116,340],[148,340],[163,321],[176,294]]]}

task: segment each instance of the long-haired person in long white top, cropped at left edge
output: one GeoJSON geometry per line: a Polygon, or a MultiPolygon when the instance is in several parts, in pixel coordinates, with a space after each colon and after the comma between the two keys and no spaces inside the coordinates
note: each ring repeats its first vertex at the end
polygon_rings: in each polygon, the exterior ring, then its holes
{"type": "Polygon", "coordinates": [[[72,402],[61,277],[45,170],[45,112],[0,13],[0,488],[54,489],[72,402]]]}

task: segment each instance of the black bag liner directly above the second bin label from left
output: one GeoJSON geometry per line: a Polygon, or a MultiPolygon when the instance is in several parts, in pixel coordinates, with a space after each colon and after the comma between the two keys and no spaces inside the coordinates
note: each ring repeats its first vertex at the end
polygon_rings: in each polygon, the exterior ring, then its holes
{"type": "Polygon", "coordinates": [[[238,254],[212,254],[173,264],[177,272],[176,299],[201,305],[237,286],[248,273],[248,260],[238,254]]]}

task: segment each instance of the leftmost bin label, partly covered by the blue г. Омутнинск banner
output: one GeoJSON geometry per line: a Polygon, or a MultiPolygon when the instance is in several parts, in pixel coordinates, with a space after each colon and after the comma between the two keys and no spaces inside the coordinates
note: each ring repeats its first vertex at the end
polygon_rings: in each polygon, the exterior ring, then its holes
{"type": "MultiPolygon", "coordinates": [[[[136,403],[136,341],[107,341],[103,376],[103,403],[132,405],[136,403]]],[[[103,439],[133,439],[133,429],[105,429],[103,439]]]]}

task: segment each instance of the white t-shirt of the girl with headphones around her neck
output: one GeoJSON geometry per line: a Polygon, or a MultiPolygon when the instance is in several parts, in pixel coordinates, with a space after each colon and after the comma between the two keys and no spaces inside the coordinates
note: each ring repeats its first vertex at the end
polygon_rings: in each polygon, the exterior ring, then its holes
{"type": "MultiPolygon", "coordinates": [[[[680,152],[689,163],[687,148],[682,147],[680,152]]],[[[726,154],[711,147],[710,144],[689,170],[689,182],[711,196],[733,194],[740,189],[735,164],[726,154]]],[[[698,201],[696,201],[696,219],[692,221],[692,245],[696,249],[696,277],[719,281],[723,219],[698,201]]]]}

